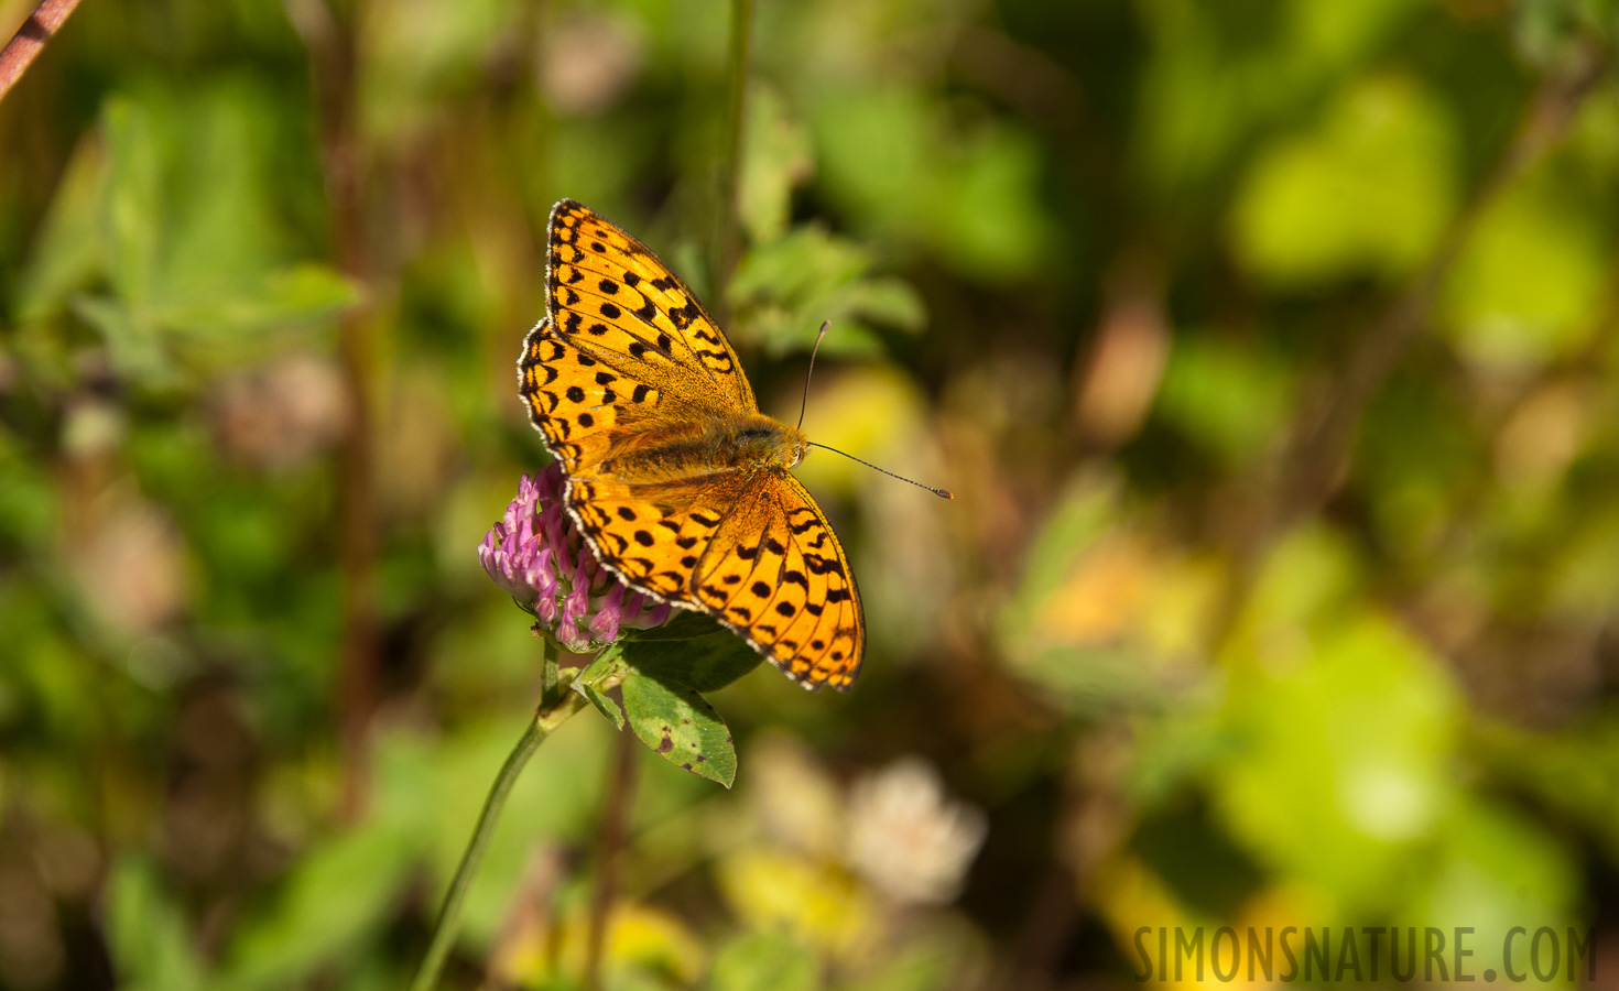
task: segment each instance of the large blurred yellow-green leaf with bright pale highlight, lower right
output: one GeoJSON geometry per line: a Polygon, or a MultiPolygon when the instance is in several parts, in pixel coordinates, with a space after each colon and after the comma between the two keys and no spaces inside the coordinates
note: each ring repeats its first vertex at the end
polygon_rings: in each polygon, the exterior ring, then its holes
{"type": "Polygon", "coordinates": [[[1329,609],[1318,622],[1290,619],[1287,604],[1256,612],[1256,627],[1294,641],[1256,632],[1263,646],[1234,651],[1248,667],[1230,678],[1226,725],[1242,746],[1213,771],[1216,814],[1263,866],[1345,913],[1394,912],[1421,886],[1457,802],[1455,687],[1375,610],[1329,609]]]}

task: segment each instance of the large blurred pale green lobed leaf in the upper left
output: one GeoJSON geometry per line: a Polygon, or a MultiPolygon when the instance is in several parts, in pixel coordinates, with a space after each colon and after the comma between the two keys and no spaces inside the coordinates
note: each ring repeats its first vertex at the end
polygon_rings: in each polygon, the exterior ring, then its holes
{"type": "Polygon", "coordinates": [[[24,313],[71,304],[125,377],[154,385],[351,306],[332,267],[290,257],[282,115],[275,94],[230,78],[108,99],[100,146],[76,154],[26,269],[24,313]],[[74,295],[86,287],[104,295],[74,295]]]}

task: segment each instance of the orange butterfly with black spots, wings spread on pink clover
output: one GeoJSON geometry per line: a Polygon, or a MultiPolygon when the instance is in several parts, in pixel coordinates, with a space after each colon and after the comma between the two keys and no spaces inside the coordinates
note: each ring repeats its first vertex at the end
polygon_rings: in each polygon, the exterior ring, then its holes
{"type": "Polygon", "coordinates": [[[806,688],[847,690],[866,620],[843,546],[788,473],[808,439],[759,413],[724,332],[646,245],[572,199],[547,241],[518,389],[597,560],[806,688]]]}

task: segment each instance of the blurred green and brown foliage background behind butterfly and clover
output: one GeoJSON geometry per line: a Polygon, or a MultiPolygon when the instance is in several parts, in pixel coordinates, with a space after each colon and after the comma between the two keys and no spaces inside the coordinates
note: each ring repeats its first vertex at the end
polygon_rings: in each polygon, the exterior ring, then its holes
{"type": "MultiPolygon", "coordinates": [[[[0,986],[408,980],[539,696],[474,547],[546,458],[562,196],[769,413],[831,319],[805,429],[957,492],[803,465],[865,674],[717,693],[730,792],[636,753],[609,988],[1120,988],[1137,928],[1222,923],[1619,967],[1616,37],[84,0],[0,105],[0,986]]],[[[578,986],[612,751],[541,748],[447,986],[578,986]]]]}

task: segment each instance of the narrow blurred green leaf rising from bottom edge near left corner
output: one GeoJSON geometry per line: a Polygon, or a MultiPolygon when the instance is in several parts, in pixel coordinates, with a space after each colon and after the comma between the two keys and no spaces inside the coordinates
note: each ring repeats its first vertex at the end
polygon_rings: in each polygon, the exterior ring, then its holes
{"type": "Polygon", "coordinates": [[[121,860],[107,883],[107,938],[118,986],[201,991],[209,986],[186,920],[144,860],[121,860]]]}

